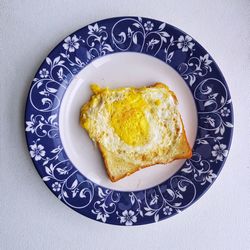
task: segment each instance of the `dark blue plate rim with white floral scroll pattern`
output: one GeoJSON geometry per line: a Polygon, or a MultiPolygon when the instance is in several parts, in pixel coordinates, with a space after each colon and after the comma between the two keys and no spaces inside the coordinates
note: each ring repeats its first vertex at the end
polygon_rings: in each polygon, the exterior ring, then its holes
{"type": "Polygon", "coordinates": [[[30,156],[50,190],[77,212],[103,223],[140,225],[173,216],[214,182],[228,156],[233,110],[218,66],[191,36],[157,20],[118,17],[90,24],[66,37],[40,66],[25,114],[30,156]],[[198,114],[193,157],[165,182],[142,191],[98,186],[68,159],[59,135],[59,109],[74,76],[93,60],[133,51],[174,68],[191,90],[198,114]]]}

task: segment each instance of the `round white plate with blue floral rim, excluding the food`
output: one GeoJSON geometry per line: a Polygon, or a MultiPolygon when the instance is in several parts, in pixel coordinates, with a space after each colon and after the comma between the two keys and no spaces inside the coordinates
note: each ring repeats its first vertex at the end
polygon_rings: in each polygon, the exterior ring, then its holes
{"type": "Polygon", "coordinates": [[[216,180],[229,153],[233,109],[225,79],[191,36],[158,20],[116,17],[66,37],[38,69],[25,111],[27,145],[49,189],[91,219],[141,225],[178,214],[216,180]],[[98,150],[79,125],[89,85],[166,83],[193,156],[112,183],[98,150]]]}

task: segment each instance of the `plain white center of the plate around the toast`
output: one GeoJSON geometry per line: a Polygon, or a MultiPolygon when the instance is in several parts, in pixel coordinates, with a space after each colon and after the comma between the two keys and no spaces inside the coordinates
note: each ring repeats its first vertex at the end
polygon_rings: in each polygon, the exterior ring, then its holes
{"type": "Polygon", "coordinates": [[[185,160],[176,160],[170,164],[145,168],[112,183],[107,177],[98,148],[79,124],[80,108],[91,95],[90,84],[117,88],[139,87],[154,82],[163,82],[176,93],[187,138],[193,146],[197,132],[194,99],[180,75],[159,59],[134,52],[107,55],[85,67],[70,83],[60,109],[60,136],[71,162],[93,182],[116,190],[141,190],[165,181],[184,163],[185,160]]]}

